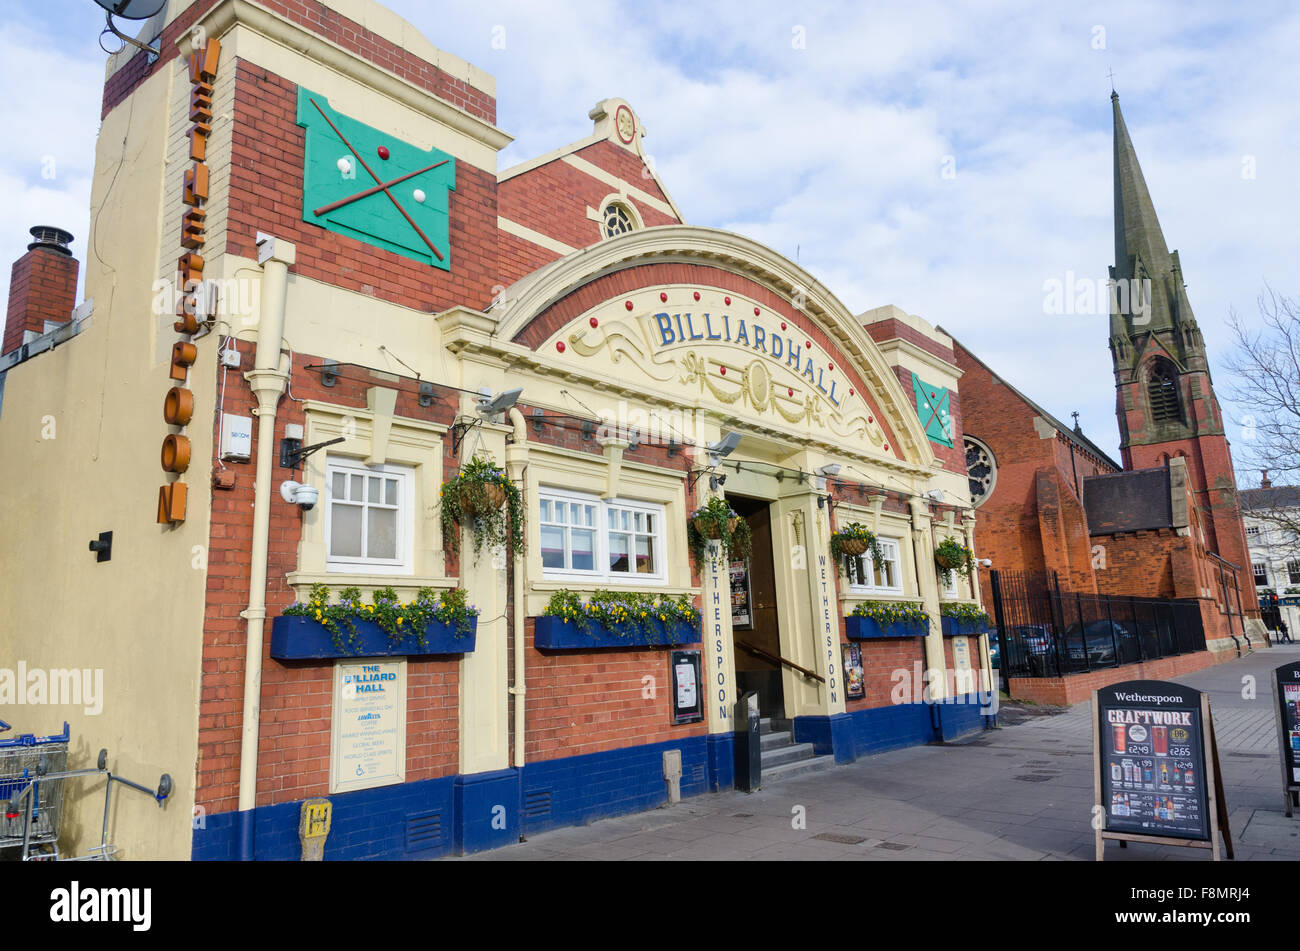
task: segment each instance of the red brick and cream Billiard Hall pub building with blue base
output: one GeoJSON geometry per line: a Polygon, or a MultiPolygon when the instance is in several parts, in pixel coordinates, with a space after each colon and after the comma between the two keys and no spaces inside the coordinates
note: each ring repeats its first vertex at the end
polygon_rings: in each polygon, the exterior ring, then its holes
{"type": "MultiPolygon", "coordinates": [[[[370,0],[174,1],[139,36],[156,57],[107,65],[84,292],[35,229],[0,404],[3,656],[104,683],[5,717],[172,774],[161,811],[118,798],[125,857],[296,859],[316,799],[326,859],[393,859],[728,790],[750,694],[800,765],[987,725],[987,635],[941,625],[982,598],[935,560],[975,543],[948,335],[688,223],[621,99],[499,168],[494,79],[370,0]],[[519,544],[445,538],[476,461],[519,544]],[[692,556],[715,498],[748,557],[692,556]],[[849,524],[879,560],[832,556],[849,524]],[[477,613],[360,644],[316,622],[346,589],[477,613]],[[699,618],[654,643],[550,609],[597,591],[699,618]],[[863,637],[866,602],[928,621],[863,637]]],[[[69,800],[65,850],[94,813],[69,800]]]]}

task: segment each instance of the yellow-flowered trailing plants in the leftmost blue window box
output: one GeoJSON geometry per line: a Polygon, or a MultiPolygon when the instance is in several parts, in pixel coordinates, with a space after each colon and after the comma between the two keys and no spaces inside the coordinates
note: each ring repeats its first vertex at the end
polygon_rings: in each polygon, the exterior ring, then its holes
{"type": "Polygon", "coordinates": [[[403,603],[391,587],[374,590],[370,604],[361,603],[361,590],[344,587],[339,591],[337,604],[329,603],[329,587],[312,585],[311,596],[306,603],[294,602],[282,612],[286,617],[308,617],[318,621],[330,633],[334,650],[339,653],[358,653],[361,640],[356,633],[356,621],[373,621],[396,643],[415,635],[416,643],[428,643],[430,621],[439,621],[452,630],[452,637],[468,637],[478,608],[467,602],[463,587],[448,591],[434,591],[421,587],[413,602],[403,603]]]}

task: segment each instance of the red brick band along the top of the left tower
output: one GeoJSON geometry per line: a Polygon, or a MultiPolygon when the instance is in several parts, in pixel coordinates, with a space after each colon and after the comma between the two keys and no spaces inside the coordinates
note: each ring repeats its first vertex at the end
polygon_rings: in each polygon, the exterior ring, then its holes
{"type": "MultiPolygon", "coordinates": [[[[179,56],[183,49],[177,47],[177,39],[182,34],[188,32],[190,27],[204,13],[212,9],[216,3],[217,0],[198,0],[194,6],[185,10],[169,23],[162,31],[162,55],[152,66],[146,66],[147,55],[142,51],[109,77],[104,84],[104,104],[100,118],[126,99],[131,90],[146,77],[152,75],[156,70],[162,69],[165,64],[179,56]]],[[[367,30],[356,21],[341,16],[326,4],[317,3],[317,0],[260,0],[260,3],[286,19],[356,53],[380,69],[394,73],[407,82],[432,92],[438,99],[495,125],[497,100],[493,96],[469,86],[463,79],[456,79],[445,73],[428,60],[421,60],[411,55],[395,43],[367,30]]]]}

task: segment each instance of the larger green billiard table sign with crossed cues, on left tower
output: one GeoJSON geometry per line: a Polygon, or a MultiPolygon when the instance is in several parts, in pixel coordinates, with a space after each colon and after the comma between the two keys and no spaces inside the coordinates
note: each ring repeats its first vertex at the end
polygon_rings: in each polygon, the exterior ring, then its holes
{"type": "Polygon", "coordinates": [[[455,158],[335,112],[325,96],[303,87],[298,125],[307,130],[304,221],[451,270],[447,209],[455,158]]]}

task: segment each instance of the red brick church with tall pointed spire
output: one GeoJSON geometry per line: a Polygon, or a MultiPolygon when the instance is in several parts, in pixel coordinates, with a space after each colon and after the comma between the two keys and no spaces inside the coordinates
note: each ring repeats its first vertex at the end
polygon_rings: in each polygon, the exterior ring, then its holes
{"type": "Polygon", "coordinates": [[[1056,573],[1070,592],[1195,599],[1226,659],[1264,642],[1231,451],[1178,252],[1112,105],[1121,461],[954,342],[976,544],[994,570],[1056,573]]]}

